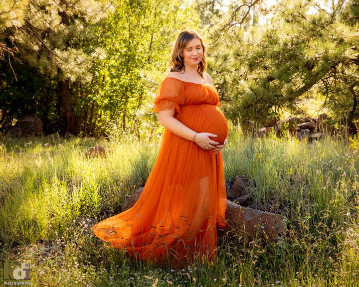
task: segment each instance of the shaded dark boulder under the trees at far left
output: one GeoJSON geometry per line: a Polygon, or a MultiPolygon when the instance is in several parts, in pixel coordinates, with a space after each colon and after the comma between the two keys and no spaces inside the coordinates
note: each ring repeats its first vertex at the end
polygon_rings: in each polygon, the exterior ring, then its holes
{"type": "Polygon", "coordinates": [[[36,114],[28,114],[17,120],[7,133],[9,137],[28,137],[41,135],[42,122],[36,114]]]}

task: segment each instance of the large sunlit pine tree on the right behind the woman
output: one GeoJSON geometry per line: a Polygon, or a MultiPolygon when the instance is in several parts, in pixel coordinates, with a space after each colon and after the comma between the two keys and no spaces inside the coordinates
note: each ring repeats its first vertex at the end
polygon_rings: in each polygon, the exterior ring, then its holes
{"type": "Polygon", "coordinates": [[[265,121],[282,108],[296,111],[305,95],[322,95],[338,116],[358,118],[358,26],[343,20],[345,2],[327,1],[311,13],[310,1],[283,1],[269,25],[243,33],[233,52],[241,64],[231,83],[233,118],[265,121]]]}

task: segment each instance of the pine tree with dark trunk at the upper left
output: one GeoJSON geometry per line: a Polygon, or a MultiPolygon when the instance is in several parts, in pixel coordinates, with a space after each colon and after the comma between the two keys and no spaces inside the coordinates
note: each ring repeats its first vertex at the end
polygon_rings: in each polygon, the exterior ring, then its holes
{"type": "Polygon", "coordinates": [[[57,79],[59,128],[77,134],[71,83],[90,80],[89,69],[96,47],[85,47],[84,42],[93,37],[93,24],[113,7],[107,0],[32,0],[25,3],[26,6],[20,7],[23,21],[16,30],[7,29],[7,38],[16,44],[26,64],[57,79]]]}

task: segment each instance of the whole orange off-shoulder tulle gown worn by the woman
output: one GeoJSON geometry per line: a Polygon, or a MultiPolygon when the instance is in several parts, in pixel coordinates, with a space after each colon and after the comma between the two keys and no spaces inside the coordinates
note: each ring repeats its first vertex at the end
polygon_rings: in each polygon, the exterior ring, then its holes
{"type": "MultiPolygon", "coordinates": [[[[228,134],[215,86],[165,78],[154,112],[175,107],[175,118],[198,133],[228,134]]],[[[215,260],[217,232],[225,227],[226,189],[222,154],[165,129],[159,154],[135,205],[92,227],[100,239],[134,259],[161,263],[215,260]]]]}

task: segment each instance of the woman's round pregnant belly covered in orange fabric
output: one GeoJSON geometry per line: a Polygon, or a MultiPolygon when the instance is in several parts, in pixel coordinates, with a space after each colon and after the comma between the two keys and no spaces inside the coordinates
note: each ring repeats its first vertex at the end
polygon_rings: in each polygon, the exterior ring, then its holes
{"type": "Polygon", "coordinates": [[[228,135],[228,124],[222,111],[216,105],[182,106],[177,119],[197,133],[211,133],[217,137],[211,140],[222,144],[228,135]]]}

